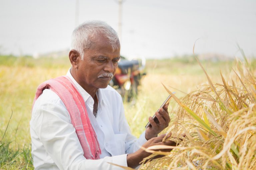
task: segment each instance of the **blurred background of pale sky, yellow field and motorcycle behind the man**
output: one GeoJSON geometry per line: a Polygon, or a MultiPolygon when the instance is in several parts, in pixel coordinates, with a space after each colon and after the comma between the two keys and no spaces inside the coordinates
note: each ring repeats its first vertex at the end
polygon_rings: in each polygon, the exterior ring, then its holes
{"type": "MultiPolygon", "coordinates": [[[[84,21],[105,21],[119,34],[123,81],[111,85],[136,137],[168,97],[161,83],[181,100],[208,84],[195,56],[213,83],[222,82],[220,70],[229,85],[239,82],[236,60],[256,68],[255,0],[0,0],[0,9],[0,169],[33,169],[36,88],[67,73],[70,37],[84,21]]],[[[171,100],[170,125],[176,109],[171,100]]]]}

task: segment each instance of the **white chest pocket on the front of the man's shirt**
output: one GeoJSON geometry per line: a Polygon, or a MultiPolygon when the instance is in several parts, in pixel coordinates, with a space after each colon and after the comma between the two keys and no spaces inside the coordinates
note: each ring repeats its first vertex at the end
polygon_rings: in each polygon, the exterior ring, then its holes
{"type": "MultiPolygon", "coordinates": [[[[125,139],[126,139],[127,133],[118,133],[114,134],[114,154],[115,155],[122,155],[125,154],[125,139]]],[[[112,155],[114,156],[114,155],[112,155]]]]}

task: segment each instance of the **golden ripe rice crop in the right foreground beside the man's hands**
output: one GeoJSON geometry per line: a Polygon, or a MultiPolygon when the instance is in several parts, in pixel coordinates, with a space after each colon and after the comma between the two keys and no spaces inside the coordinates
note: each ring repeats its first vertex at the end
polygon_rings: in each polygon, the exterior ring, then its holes
{"type": "Polygon", "coordinates": [[[167,132],[177,146],[152,146],[145,149],[164,157],[141,166],[140,169],[256,169],[256,81],[255,70],[245,60],[236,62],[230,78],[213,83],[204,71],[208,83],[179,99],[164,86],[179,105],[175,120],[167,132]],[[186,137],[181,134],[186,133],[186,137]],[[165,152],[164,149],[173,150],[165,152]]]}

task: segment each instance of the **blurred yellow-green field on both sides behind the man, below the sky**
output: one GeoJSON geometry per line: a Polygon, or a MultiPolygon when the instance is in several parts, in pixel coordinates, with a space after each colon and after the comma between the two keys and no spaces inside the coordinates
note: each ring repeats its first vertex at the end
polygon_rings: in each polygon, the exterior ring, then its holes
{"type": "MultiPolygon", "coordinates": [[[[230,80],[234,76],[231,69],[236,67],[234,61],[202,61],[202,65],[214,83],[222,82],[220,69],[225,79],[230,80]]],[[[66,74],[69,67],[67,58],[0,56],[1,169],[33,169],[29,121],[36,87],[44,80],[66,74]]],[[[137,137],[145,129],[148,117],[169,95],[162,83],[169,90],[176,91],[180,99],[200,88],[200,85],[209,84],[193,56],[148,60],[146,72],[136,101],[124,103],[127,121],[137,137]]],[[[175,121],[177,107],[172,100],[169,105],[170,127],[175,121]]],[[[169,129],[166,128],[165,132],[169,129]]]]}

